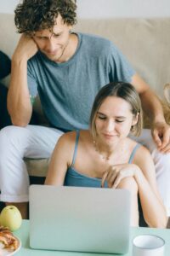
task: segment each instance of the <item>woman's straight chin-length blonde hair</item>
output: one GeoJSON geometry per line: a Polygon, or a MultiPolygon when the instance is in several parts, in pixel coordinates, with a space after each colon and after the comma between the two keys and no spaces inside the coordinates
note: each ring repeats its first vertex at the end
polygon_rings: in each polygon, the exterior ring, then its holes
{"type": "Polygon", "coordinates": [[[141,107],[141,102],[138,92],[135,90],[132,84],[123,83],[123,82],[112,82],[106,84],[104,87],[99,90],[97,96],[94,99],[94,105],[92,107],[90,115],[90,130],[94,139],[97,136],[95,119],[99,111],[101,104],[105,101],[108,96],[120,97],[131,106],[131,112],[134,117],[138,116],[138,121],[136,125],[131,127],[131,133],[139,137],[142,127],[143,127],[143,112],[141,107]]]}

